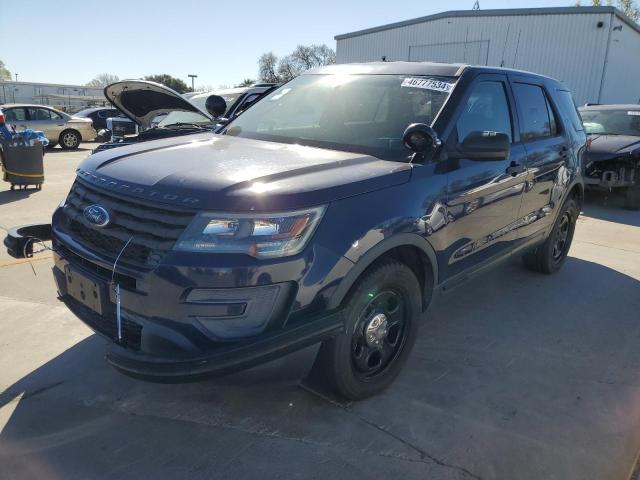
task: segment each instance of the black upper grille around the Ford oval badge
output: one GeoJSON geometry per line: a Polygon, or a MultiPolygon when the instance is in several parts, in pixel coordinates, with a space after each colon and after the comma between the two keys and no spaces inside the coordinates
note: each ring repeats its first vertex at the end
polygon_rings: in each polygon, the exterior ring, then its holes
{"type": "Polygon", "coordinates": [[[115,261],[131,239],[119,261],[148,269],[155,267],[173,248],[193,218],[193,212],[150,206],[131,197],[106,193],[77,180],[71,188],[64,212],[66,230],[76,242],[115,261]],[[109,211],[111,220],[106,227],[97,228],[85,219],[84,209],[93,204],[109,211]]]}

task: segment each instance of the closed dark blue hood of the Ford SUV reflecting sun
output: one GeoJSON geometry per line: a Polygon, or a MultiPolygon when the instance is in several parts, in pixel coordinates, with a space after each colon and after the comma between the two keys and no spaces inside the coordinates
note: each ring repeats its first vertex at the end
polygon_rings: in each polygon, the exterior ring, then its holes
{"type": "Polygon", "coordinates": [[[319,205],[407,182],[411,165],[358,153],[201,133],[104,150],[78,177],[144,200],[208,210],[319,205]]]}

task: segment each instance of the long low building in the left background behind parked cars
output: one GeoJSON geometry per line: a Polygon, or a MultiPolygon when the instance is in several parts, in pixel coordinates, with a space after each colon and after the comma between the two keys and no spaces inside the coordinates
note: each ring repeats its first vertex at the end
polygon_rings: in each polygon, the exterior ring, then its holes
{"type": "Polygon", "coordinates": [[[0,82],[0,104],[36,103],[65,107],[77,111],[96,103],[96,98],[106,102],[102,87],[93,88],[84,85],[62,85],[35,82],[0,82]],[[45,97],[42,98],[41,96],[45,97]],[[46,95],[55,95],[47,98],[46,95]],[[86,99],[79,97],[87,97],[86,99]]]}

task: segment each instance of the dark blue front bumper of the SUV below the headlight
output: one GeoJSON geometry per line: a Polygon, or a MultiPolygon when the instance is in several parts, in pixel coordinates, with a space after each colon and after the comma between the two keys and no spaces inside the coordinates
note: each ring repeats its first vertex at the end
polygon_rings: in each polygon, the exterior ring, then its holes
{"type": "MultiPolygon", "coordinates": [[[[209,262],[198,255],[171,254],[144,272],[118,267],[114,276],[121,286],[118,337],[112,265],[75,243],[56,228],[55,221],[53,237],[53,273],[61,300],[110,341],[107,360],[131,376],[178,382],[226,374],[321,342],[344,329],[340,311],[318,305],[300,310],[316,296],[305,289],[309,286],[299,287],[309,265],[302,258],[259,266],[250,259],[244,266],[242,259],[218,259],[215,266],[203,266],[209,262]],[[67,292],[68,269],[99,285],[101,313],[67,292]]],[[[331,255],[321,249],[314,258],[335,266],[331,255]]],[[[335,269],[341,271],[344,265],[338,262],[335,269]]]]}

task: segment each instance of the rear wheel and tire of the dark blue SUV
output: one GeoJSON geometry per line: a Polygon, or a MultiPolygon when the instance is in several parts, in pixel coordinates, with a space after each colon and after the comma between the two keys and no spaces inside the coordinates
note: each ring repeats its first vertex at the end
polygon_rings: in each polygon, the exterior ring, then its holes
{"type": "Polygon", "coordinates": [[[525,267],[546,274],[560,270],[571,248],[579,214],[580,209],[575,199],[568,198],[545,242],[522,257],[525,267]]]}

